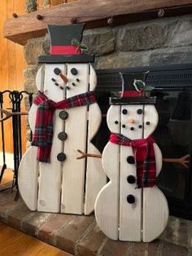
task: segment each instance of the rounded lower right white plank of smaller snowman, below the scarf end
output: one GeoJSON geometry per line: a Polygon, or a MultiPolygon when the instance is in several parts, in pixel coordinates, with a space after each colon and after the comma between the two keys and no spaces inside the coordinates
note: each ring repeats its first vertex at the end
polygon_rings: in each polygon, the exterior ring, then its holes
{"type": "Polygon", "coordinates": [[[154,186],[143,189],[143,236],[142,241],[155,240],[168,223],[168,202],[163,194],[154,186]]]}

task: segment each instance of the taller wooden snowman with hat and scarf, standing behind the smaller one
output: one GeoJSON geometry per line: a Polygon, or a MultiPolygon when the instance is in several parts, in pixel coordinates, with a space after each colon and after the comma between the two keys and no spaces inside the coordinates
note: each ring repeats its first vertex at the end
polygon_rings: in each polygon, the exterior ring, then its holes
{"type": "Polygon", "coordinates": [[[33,146],[20,162],[19,188],[30,210],[90,214],[106,183],[101,161],[76,160],[76,149],[98,149],[90,142],[102,119],[94,97],[97,77],[81,51],[85,24],[49,25],[50,55],[37,72],[39,94],[29,111],[33,146]]]}

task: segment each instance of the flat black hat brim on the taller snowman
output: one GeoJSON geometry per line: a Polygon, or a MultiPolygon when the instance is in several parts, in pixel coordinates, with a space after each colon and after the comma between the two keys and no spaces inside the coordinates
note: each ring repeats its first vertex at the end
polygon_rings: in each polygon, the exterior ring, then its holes
{"type": "Polygon", "coordinates": [[[38,63],[89,63],[94,62],[94,55],[41,55],[38,63]]]}

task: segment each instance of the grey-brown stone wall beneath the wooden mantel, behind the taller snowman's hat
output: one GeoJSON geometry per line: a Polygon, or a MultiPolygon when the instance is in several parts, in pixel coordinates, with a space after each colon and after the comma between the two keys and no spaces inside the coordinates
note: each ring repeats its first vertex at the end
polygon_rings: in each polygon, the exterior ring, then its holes
{"type": "MultiPolygon", "coordinates": [[[[192,63],[192,15],[89,29],[83,41],[95,55],[96,69],[192,63]]],[[[24,46],[24,90],[36,92],[37,56],[49,54],[49,49],[48,34],[24,46]]]]}

